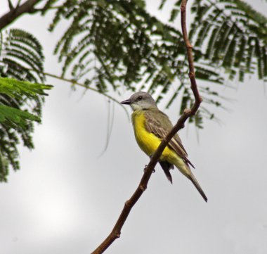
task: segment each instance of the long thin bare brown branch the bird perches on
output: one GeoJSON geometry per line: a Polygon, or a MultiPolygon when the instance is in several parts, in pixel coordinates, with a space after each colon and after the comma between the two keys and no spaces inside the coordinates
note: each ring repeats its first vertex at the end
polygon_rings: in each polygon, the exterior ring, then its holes
{"type": "Polygon", "coordinates": [[[155,165],[157,164],[160,156],[162,155],[162,152],[164,151],[164,148],[167,146],[171,138],[178,132],[179,129],[182,129],[185,125],[185,121],[188,120],[191,116],[195,115],[197,112],[197,109],[200,107],[200,103],[202,102],[202,98],[200,97],[200,94],[197,89],[197,82],[195,81],[195,70],[194,70],[194,63],[193,63],[193,47],[189,42],[188,34],[186,31],[186,4],[187,0],[183,0],[181,3],[181,23],[182,23],[182,30],[183,30],[183,39],[185,41],[187,56],[188,56],[188,63],[189,63],[189,77],[191,82],[191,89],[193,91],[193,94],[195,96],[195,103],[192,108],[185,109],[183,112],[183,115],[178,119],[176,122],[176,125],[171,129],[171,131],[167,134],[167,136],[162,140],[161,144],[157,148],[157,151],[152,155],[152,158],[150,159],[150,163],[146,167],[146,170],[143,174],[143,177],[141,179],[140,184],[138,185],[138,188],[133,193],[133,196],[125,202],[124,208],[122,210],[122,213],[119,215],[119,219],[117,220],[115,227],[112,229],[109,236],[103,241],[103,243],[96,248],[96,250],[93,251],[92,254],[100,254],[103,253],[112,243],[115,241],[115,239],[119,238],[121,234],[121,229],[124,225],[124,222],[126,221],[131,208],[133,208],[133,205],[136,204],[138,199],[141,197],[143,191],[148,186],[148,181],[151,177],[152,171],[155,168],[155,165]]]}

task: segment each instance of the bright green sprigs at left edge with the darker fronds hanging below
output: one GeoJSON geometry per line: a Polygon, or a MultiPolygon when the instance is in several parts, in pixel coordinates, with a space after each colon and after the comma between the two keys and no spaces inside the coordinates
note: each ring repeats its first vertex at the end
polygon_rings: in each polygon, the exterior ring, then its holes
{"type": "Polygon", "coordinates": [[[33,148],[33,122],[40,122],[41,103],[45,84],[0,77],[0,182],[6,182],[8,166],[19,169],[20,139],[24,146],[33,148]]]}

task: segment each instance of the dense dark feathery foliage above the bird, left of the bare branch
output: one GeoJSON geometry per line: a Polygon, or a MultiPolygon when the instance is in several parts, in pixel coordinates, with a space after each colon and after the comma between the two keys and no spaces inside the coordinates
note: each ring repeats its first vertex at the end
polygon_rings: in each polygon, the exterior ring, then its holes
{"type": "MultiPolygon", "coordinates": [[[[73,80],[82,79],[100,92],[145,89],[159,94],[157,101],[174,94],[168,106],[183,93],[185,87],[173,85],[188,72],[181,32],[147,13],[145,1],[67,0],[58,8],[51,31],[60,20],[70,23],[55,49],[63,76],[71,73],[73,80]]],[[[195,51],[195,59],[201,57],[195,51]]],[[[197,65],[196,70],[198,78],[222,83],[207,66],[197,65]]],[[[183,105],[193,99],[189,95],[183,105]]]]}

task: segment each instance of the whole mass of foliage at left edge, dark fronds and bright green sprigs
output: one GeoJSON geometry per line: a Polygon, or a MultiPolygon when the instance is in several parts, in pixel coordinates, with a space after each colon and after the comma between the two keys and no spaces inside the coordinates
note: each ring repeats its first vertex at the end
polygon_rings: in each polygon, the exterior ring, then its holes
{"type": "Polygon", "coordinates": [[[43,63],[41,44],[32,34],[0,32],[0,182],[6,181],[9,165],[19,169],[20,139],[27,148],[34,146],[32,121],[40,122],[44,89],[51,88],[37,83],[44,82],[43,63]]]}

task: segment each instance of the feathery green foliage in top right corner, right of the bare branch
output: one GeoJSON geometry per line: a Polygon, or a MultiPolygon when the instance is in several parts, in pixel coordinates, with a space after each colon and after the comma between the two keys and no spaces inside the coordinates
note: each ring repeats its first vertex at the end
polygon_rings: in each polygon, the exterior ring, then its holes
{"type": "Polygon", "coordinates": [[[194,0],[191,13],[189,36],[203,53],[200,63],[223,68],[230,80],[243,82],[246,73],[257,72],[266,81],[266,16],[241,0],[194,0]]]}

